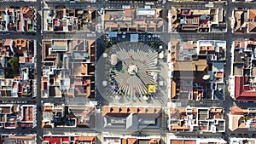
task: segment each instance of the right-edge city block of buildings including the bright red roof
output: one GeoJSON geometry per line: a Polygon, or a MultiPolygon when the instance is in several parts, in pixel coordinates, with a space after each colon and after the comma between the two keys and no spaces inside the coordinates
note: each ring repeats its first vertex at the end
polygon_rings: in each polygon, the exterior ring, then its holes
{"type": "Polygon", "coordinates": [[[255,41],[236,41],[231,53],[231,97],[236,101],[255,101],[255,41]]]}

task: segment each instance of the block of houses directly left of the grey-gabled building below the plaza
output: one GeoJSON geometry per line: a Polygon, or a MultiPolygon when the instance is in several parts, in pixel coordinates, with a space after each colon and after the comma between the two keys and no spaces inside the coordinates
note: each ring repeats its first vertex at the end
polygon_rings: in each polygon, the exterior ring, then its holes
{"type": "Polygon", "coordinates": [[[96,124],[95,106],[65,106],[44,103],[42,128],[90,127],[96,124]],[[63,120],[65,118],[66,120],[63,120]]]}

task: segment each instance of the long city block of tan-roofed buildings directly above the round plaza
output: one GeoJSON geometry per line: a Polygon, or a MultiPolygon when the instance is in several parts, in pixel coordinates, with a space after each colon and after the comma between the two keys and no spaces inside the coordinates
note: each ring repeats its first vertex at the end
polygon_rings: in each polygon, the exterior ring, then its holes
{"type": "Polygon", "coordinates": [[[104,11],[105,32],[163,32],[163,9],[104,11]]]}

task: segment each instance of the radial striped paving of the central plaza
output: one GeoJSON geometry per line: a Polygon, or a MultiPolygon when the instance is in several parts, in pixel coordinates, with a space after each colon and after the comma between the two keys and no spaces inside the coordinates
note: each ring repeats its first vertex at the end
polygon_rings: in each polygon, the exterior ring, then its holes
{"type": "Polygon", "coordinates": [[[108,55],[117,55],[117,64],[109,71],[108,95],[148,95],[148,85],[156,84],[158,53],[143,43],[118,43],[108,55]]]}

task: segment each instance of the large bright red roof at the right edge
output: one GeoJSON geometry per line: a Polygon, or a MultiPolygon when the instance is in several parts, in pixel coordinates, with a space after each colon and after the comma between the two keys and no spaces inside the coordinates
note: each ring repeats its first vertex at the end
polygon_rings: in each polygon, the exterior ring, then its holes
{"type": "Polygon", "coordinates": [[[235,98],[238,101],[256,101],[256,91],[247,90],[248,85],[245,84],[245,77],[235,78],[235,98]]]}

